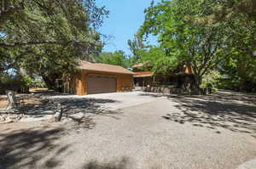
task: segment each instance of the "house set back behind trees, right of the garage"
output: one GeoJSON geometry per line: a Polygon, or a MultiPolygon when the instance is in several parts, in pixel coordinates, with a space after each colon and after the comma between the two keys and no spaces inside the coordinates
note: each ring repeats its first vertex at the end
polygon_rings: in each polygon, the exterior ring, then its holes
{"type": "Polygon", "coordinates": [[[184,65],[182,68],[166,74],[153,73],[152,67],[147,63],[140,63],[132,66],[135,73],[134,84],[136,87],[154,87],[158,85],[172,85],[182,88],[185,83],[192,83],[194,73],[190,65],[184,65]]]}

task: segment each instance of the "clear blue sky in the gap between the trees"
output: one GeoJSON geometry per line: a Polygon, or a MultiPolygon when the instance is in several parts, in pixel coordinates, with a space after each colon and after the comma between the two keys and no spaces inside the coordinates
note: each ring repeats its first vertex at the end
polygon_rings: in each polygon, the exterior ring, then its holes
{"type": "MultiPolygon", "coordinates": [[[[106,52],[123,50],[131,54],[127,41],[144,21],[144,9],[150,6],[151,0],[96,0],[99,6],[106,6],[110,14],[99,29],[102,34],[113,36],[104,48],[106,52]]],[[[155,1],[159,2],[159,1],[155,1]]]]}

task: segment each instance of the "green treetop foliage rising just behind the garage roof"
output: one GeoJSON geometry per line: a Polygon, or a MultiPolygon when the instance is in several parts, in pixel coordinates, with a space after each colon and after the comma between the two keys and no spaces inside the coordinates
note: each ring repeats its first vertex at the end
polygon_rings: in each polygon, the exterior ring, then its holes
{"type": "Polygon", "coordinates": [[[131,67],[131,58],[121,50],[113,53],[102,53],[98,58],[98,62],[109,65],[119,65],[124,68],[131,67]]]}

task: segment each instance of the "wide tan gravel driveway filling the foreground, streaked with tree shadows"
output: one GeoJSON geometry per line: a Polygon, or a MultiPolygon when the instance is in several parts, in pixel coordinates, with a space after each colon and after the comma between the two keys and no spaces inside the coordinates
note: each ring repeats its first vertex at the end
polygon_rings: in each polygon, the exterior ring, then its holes
{"type": "Polygon", "coordinates": [[[135,98],[148,101],[74,121],[1,125],[0,168],[236,169],[256,158],[253,95],[135,98]]]}

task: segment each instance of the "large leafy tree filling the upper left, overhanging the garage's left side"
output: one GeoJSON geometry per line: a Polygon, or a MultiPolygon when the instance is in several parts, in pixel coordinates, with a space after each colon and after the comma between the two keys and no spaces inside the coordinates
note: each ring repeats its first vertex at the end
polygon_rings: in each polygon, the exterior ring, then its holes
{"type": "Polygon", "coordinates": [[[6,0],[0,14],[0,70],[22,67],[53,87],[78,59],[101,52],[96,28],[108,11],[94,0],[6,0]]]}

